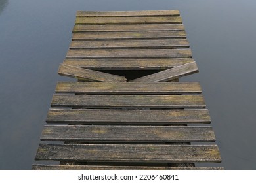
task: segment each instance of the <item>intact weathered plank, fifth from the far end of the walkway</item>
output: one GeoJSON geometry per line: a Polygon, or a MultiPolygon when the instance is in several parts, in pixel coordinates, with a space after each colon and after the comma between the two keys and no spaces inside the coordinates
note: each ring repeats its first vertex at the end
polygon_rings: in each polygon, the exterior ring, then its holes
{"type": "Polygon", "coordinates": [[[189,48],[186,39],[156,39],[156,40],[105,40],[105,41],[72,41],[70,49],[164,49],[164,48],[189,48]]]}

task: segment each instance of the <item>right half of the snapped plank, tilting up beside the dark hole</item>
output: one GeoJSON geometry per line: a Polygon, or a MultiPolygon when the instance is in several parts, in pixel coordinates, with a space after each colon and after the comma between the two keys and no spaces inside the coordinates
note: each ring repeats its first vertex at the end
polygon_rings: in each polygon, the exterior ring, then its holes
{"type": "Polygon", "coordinates": [[[198,66],[196,62],[186,63],[184,65],[174,67],[172,69],[167,69],[165,71],[160,71],[152,75],[143,76],[141,78],[136,78],[131,80],[131,82],[160,82],[175,80],[176,78],[191,75],[193,73],[198,73],[198,66]]]}

